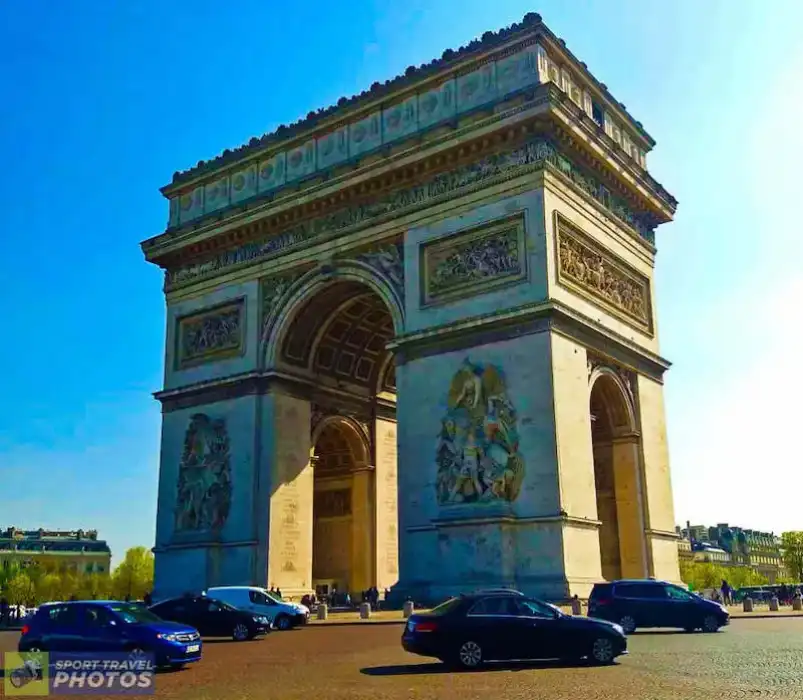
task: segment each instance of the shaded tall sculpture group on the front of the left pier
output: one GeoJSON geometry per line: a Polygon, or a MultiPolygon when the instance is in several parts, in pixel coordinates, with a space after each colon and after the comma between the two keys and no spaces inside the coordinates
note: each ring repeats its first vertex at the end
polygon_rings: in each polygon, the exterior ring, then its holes
{"type": "Polygon", "coordinates": [[[178,470],[175,531],[219,530],[231,509],[229,434],[223,419],[190,418],[178,470]]]}

